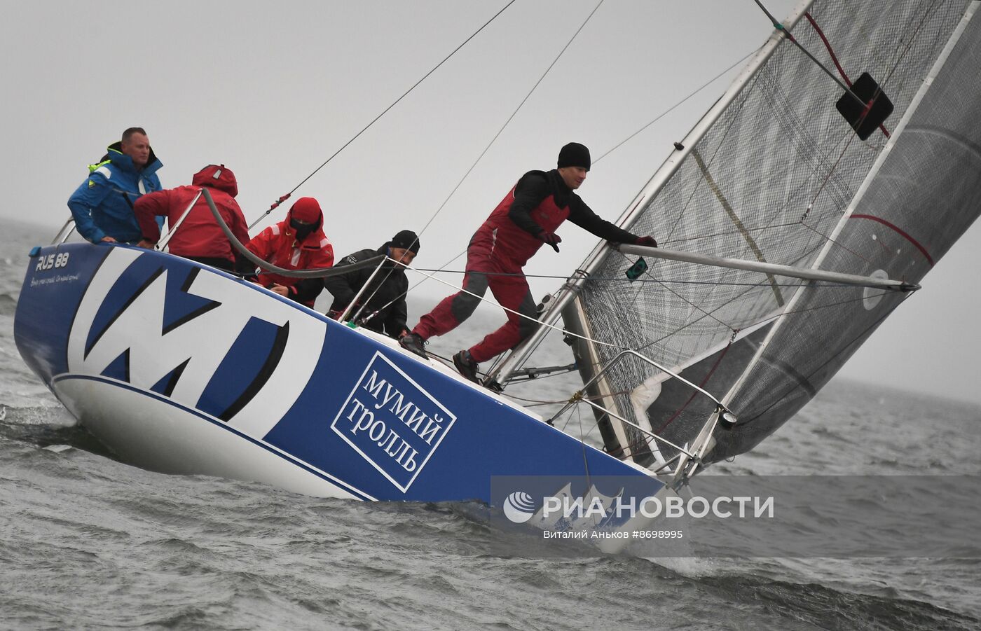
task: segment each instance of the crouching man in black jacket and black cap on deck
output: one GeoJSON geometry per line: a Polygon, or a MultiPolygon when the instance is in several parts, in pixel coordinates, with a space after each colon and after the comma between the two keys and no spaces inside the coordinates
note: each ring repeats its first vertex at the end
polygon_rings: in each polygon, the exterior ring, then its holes
{"type": "Polygon", "coordinates": [[[398,264],[409,265],[418,253],[419,237],[412,230],[402,230],[378,250],[360,250],[341,259],[335,267],[349,266],[379,255],[387,256],[389,260],[374,277],[375,267],[364,267],[324,278],[324,286],[334,296],[327,315],[335,319],[340,317],[367,284],[347,316],[353,317],[360,310],[358,323],[362,326],[393,338],[408,333],[405,294],[409,290],[409,279],[405,276],[405,267],[398,264]]]}

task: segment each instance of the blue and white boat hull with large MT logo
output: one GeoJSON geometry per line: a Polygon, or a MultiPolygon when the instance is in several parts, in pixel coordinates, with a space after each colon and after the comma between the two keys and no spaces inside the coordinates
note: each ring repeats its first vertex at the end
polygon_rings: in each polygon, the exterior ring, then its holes
{"type": "Polygon", "coordinates": [[[493,504],[495,476],[661,486],[385,337],[163,253],[41,249],[15,336],[83,425],[152,470],[360,500],[493,504]]]}

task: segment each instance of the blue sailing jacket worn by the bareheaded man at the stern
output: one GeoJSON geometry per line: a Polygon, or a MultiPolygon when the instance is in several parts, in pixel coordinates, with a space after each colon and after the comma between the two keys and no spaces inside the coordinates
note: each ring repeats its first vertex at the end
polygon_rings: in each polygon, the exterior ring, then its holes
{"type": "Polygon", "coordinates": [[[68,207],[75,217],[78,233],[92,243],[104,236],[117,241],[139,241],[142,231],[132,213],[132,203],[144,193],[159,191],[157,170],[163,164],[150,149],[142,170],[136,170],[132,159],[120,151],[122,143],[109,145],[109,153],[97,165],[89,165],[88,177],[72,197],[68,207]]]}

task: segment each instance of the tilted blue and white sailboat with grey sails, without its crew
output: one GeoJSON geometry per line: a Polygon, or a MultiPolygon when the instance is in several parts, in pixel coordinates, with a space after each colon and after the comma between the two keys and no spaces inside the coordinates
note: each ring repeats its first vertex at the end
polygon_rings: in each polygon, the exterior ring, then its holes
{"type": "Polygon", "coordinates": [[[976,4],[815,0],[775,23],[620,218],[662,247],[597,245],[490,371],[504,395],[224,271],[66,234],[31,253],[18,349],[152,470],[512,521],[542,512],[516,480],[603,510],[629,486],[604,477],[672,493],[797,413],[978,216],[976,4]],[[602,449],[506,397],[556,328],[602,449]]]}

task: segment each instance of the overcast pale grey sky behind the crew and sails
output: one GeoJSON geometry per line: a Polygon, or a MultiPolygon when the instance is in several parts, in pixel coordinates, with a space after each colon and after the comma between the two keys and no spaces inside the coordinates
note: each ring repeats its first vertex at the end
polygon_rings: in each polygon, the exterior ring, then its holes
{"type": "MultiPolygon", "coordinates": [[[[140,125],[165,186],[225,164],[251,221],[505,4],[0,0],[0,216],[60,225],[86,165],[140,125]]],[[[797,2],[765,4],[783,18],[797,2]]],[[[320,200],[338,255],[421,231],[595,6],[519,0],[293,199],[320,200]]],[[[422,234],[417,265],[461,254],[515,179],[551,168],[562,144],[605,153],[771,29],[752,0],[606,0],[422,234]]],[[[587,203],[615,220],[731,76],[595,164],[587,203]]],[[[567,274],[594,245],[583,230],[561,232],[562,252],[542,250],[529,273],[567,274]]],[[[981,402],[979,253],[975,225],[841,374],[981,402]]]]}

